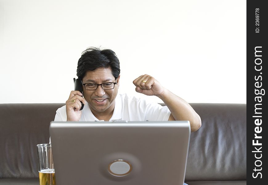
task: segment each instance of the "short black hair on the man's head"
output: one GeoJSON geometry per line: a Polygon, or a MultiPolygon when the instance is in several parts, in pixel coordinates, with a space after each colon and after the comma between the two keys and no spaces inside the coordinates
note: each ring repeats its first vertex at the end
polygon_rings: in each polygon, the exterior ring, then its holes
{"type": "Polygon", "coordinates": [[[78,60],[76,75],[78,78],[83,79],[87,71],[93,71],[100,67],[111,67],[112,75],[115,78],[120,75],[120,63],[114,51],[89,47],[82,52],[78,60]]]}

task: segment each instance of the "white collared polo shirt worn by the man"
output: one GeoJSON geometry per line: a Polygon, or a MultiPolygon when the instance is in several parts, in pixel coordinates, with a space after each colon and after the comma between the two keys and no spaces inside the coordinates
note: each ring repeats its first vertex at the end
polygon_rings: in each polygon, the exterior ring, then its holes
{"type": "MultiPolygon", "coordinates": [[[[115,109],[109,121],[167,121],[170,111],[167,106],[146,100],[118,94],[115,99],[115,109]]],[[[66,105],[56,111],[54,121],[66,121],[66,105]]],[[[104,121],[98,120],[91,112],[88,103],[84,106],[79,121],[104,121]]]]}

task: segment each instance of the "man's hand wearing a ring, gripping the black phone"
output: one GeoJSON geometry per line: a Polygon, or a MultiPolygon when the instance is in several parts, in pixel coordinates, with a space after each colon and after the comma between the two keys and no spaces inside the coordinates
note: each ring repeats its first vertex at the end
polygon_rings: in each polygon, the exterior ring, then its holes
{"type": "Polygon", "coordinates": [[[79,91],[71,91],[69,99],[66,101],[67,121],[79,121],[82,115],[80,108],[81,102],[85,105],[86,100],[82,97],[83,94],[79,91]]]}

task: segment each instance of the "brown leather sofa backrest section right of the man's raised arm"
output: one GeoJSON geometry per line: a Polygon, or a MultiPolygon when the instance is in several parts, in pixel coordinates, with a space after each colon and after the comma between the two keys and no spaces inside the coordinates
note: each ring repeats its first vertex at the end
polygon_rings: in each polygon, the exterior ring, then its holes
{"type": "Polygon", "coordinates": [[[246,104],[191,104],[202,126],[191,133],[185,181],[246,180],[246,104]]]}

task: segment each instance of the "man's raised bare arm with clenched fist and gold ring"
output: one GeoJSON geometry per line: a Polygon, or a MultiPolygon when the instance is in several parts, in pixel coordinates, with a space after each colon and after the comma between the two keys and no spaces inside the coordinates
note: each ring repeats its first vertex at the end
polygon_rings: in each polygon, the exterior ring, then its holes
{"type": "Polygon", "coordinates": [[[170,92],[168,89],[162,87],[162,85],[152,76],[147,74],[141,75],[133,81],[133,84],[136,86],[136,92],[148,96],[157,96],[168,106],[171,112],[169,121],[189,120],[191,132],[194,132],[201,127],[201,118],[191,105],[170,92]]]}

